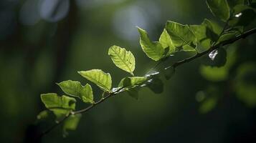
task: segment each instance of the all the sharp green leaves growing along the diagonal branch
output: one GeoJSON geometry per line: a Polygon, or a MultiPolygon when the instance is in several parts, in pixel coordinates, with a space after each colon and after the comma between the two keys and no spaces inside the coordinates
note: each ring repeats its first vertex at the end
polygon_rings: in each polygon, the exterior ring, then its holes
{"type": "MultiPolygon", "coordinates": [[[[138,27],[141,47],[148,58],[159,63],[181,51],[192,52],[194,53],[193,57],[210,52],[204,60],[204,64],[223,66],[226,63],[227,52],[222,48],[222,43],[243,33],[245,26],[250,24],[255,17],[255,5],[255,0],[207,0],[207,6],[212,14],[223,21],[224,26],[219,26],[209,19],[204,19],[199,25],[184,25],[167,21],[158,41],[151,41],[147,32],[138,27]],[[219,47],[212,49],[214,46],[219,47]]],[[[63,126],[65,134],[67,134],[68,129],[77,127],[81,117],[81,110],[75,112],[75,98],[81,99],[82,102],[91,104],[90,106],[93,107],[106,97],[120,92],[128,92],[131,97],[138,99],[138,89],[141,87],[148,87],[155,93],[161,93],[163,82],[158,78],[158,74],[163,71],[164,77],[170,79],[176,67],[172,65],[162,71],[153,71],[143,77],[135,77],[133,71],[135,70],[136,59],[131,51],[120,46],[111,46],[108,55],[115,66],[130,73],[131,77],[124,77],[120,80],[118,87],[113,88],[110,74],[101,69],[78,71],[78,74],[103,90],[102,99],[99,101],[95,102],[90,84],[83,86],[80,82],[72,80],[57,84],[68,96],[58,96],[54,93],[41,94],[42,102],[49,111],[55,114],[57,122],[65,120],[63,126]],[[105,96],[105,94],[107,95],[105,96]]],[[[41,112],[38,118],[42,119],[46,115],[47,111],[41,112]]]]}

